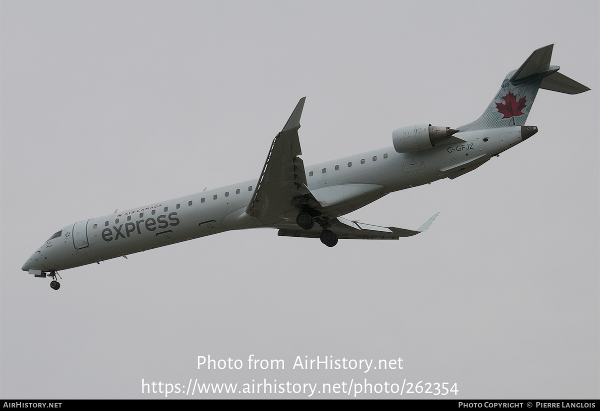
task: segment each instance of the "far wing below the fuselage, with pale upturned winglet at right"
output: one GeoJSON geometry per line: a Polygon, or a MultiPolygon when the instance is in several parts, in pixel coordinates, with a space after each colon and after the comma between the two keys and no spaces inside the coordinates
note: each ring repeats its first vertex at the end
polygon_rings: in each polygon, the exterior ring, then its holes
{"type": "MultiPolygon", "coordinates": [[[[422,226],[416,230],[397,228],[397,227],[380,227],[378,225],[365,224],[358,221],[346,220],[342,217],[337,217],[333,220],[331,231],[337,234],[338,238],[350,238],[356,240],[398,240],[400,237],[410,237],[411,235],[419,234],[419,232],[427,231],[427,228],[436,219],[437,214],[433,214],[422,226]]],[[[305,230],[301,228],[280,228],[277,235],[286,237],[307,237],[319,238],[321,234],[320,228],[305,230]]]]}

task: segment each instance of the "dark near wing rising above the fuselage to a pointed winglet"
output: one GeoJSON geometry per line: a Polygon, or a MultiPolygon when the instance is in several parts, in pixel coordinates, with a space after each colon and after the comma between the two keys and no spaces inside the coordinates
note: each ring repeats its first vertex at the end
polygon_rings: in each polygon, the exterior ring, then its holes
{"type": "Polygon", "coordinates": [[[305,99],[300,99],[286,125],[274,138],[246,208],[247,214],[264,223],[277,221],[278,215],[294,210],[298,203],[319,204],[308,191],[304,162],[298,157],[302,154],[298,129],[305,99]]]}

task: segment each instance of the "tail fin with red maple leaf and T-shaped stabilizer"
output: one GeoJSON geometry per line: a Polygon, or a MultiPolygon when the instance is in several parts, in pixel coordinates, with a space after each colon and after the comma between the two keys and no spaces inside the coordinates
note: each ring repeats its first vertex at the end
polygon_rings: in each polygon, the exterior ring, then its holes
{"type": "Polygon", "coordinates": [[[558,72],[559,66],[551,66],[550,58],[554,44],[535,50],[518,69],[506,75],[500,90],[472,123],[458,127],[460,131],[483,130],[508,126],[523,126],[538,94],[538,89],[577,94],[589,90],[566,75],[558,72]]]}

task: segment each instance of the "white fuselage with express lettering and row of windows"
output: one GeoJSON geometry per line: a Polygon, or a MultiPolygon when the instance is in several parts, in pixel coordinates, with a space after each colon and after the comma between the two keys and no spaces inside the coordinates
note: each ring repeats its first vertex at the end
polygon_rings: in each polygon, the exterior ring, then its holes
{"type": "MultiPolygon", "coordinates": [[[[472,167],[466,167],[466,173],[475,168],[473,164],[522,141],[518,126],[455,137],[464,141],[413,153],[387,147],[305,167],[308,189],[334,218],[390,192],[452,176],[463,163],[472,167]]],[[[61,235],[46,241],[25,262],[23,270],[65,270],[232,229],[277,227],[277,221],[245,212],[256,183],[257,179],[248,180],[65,226],[61,235]]],[[[292,207],[278,219],[289,223],[296,214],[292,207]]]]}

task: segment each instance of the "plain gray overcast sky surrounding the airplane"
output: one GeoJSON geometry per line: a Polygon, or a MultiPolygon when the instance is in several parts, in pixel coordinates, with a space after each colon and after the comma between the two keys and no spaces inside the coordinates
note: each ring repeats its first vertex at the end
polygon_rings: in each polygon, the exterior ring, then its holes
{"type": "Polygon", "coordinates": [[[2,398],[161,398],[142,379],[196,378],[600,396],[598,1],[0,8],[2,398]],[[401,126],[476,119],[551,43],[592,91],[540,90],[534,137],[350,215],[416,228],[442,211],[425,234],[329,249],[233,231],[63,271],[59,291],[20,270],[69,223],[258,177],[302,96],[310,165],[391,146],[401,126]],[[251,354],[286,368],[196,366],[251,354]],[[292,370],[317,355],[404,368],[292,370]]]}

